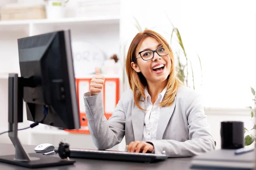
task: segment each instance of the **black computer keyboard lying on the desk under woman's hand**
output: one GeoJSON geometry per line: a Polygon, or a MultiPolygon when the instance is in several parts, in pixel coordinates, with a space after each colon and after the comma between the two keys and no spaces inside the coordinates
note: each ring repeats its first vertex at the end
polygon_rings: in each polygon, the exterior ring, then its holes
{"type": "MultiPolygon", "coordinates": [[[[55,152],[58,153],[58,149],[55,149],[55,152]]],[[[124,151],[70,149],[70,158],[155,162],[163,161],[167,159],[168,156],[154,153],[130,153],[124,151]]]]}

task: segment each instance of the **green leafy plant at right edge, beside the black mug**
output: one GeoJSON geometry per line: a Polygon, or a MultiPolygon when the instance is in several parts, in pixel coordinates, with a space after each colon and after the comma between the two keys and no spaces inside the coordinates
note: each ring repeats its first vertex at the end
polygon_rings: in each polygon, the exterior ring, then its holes
{"type": "MultiPolygon", "coordinates": [[[[253,103],[254,103],[254,113],[256,113],[256,95],[255,95],[255,90],[252,87],[251,87],[251,92],[253,94],[253,99],[252,100],[253,100],[253,103]]],[[[252,111],[252,107],[249,106],[248,108],[250,108],[250,110],[251,110],[250,115],[251,115],[251,118],[253,118],[254,114],[253,114],[253,111],[252,111]]],[[[251,130],[253,130],[253,129],[256,129],[256,124],[253,125],[253,128],[251,130]]],[[[244,133],[250,133],[249,135],[244,137],[244,145],[245,146],[252,144],[253,141],[256,141],[253,134],[251,133],[251,130],[248,130],[247,128],[244,127],[244,133]]],[[[255,147],[256,147],[256,145],[255,145],[255,147]]]]}

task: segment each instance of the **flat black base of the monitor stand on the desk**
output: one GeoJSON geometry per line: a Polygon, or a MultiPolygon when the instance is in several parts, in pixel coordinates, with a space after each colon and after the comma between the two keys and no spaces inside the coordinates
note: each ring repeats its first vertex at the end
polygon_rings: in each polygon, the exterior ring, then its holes
{"type": "Polygon", "coordinates": [[[7,164],[15,164],[21,167],[28,168],[39,168],[39,167],[54,167],[54,166],[62,166],[62,165],[72,165],[76,161],[61,159],[54,156],[47,156],[41,153],[29,153],[31,161],[16,161],[15,155],[5,155],[0,156],[0,162],[4,162],[7,164]],[[33,158],[39,158],[33,160],[33,158]]]}

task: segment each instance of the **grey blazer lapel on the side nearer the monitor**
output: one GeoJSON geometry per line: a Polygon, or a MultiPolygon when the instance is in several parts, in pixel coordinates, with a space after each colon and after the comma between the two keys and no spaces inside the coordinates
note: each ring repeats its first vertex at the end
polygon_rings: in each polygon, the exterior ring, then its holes
{"type": "MultiPolygon", "coordinates": [[[[145,103],[141,101],[139,103],[140,107],[145,109],[145,103]]],[[[134,140],[136,141],[142,141],[143,139],[144,118],[145,111],[140,110],[134,103],[131,111],[131,122],[134,131],[134,140]]]]}

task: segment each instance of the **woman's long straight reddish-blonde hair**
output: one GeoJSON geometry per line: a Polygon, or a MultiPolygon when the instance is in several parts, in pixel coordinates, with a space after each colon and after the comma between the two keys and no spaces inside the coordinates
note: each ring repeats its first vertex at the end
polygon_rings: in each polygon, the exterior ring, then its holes
{"type": "Polygon", "coordinates": [[[128,49],[128,54],[126,58],[126,72],[129,80],[130,87],[133,91],[134,102],[138,108],[144,110],[140,107],[139,101],[141,96],[143,96],[143,100],[145,101],[145,92],[144,89],[147,87],[147,81],[142,73],[137,73],[132,67],[131,62],[134,61],[136,58],[136,50],[142,44],[143,40],[147,37],[153,37],[158,40],[165,49],[168,49],[168,55],[171,58],[171,70],[169,76],[167,77],[167,91],[166,94],[160,102],[160,106],[168,107],[171,106],[175,100],[175,96],[178,90],[178,87],[182,84],[180,80],[177,78],[175,74],[175,67],[174,67],[174,57],[172,53],[172,49],[169,46],[168,42],[158,33],[151,30],[145,30],[142,33],[138,33],[131,42],[131,45],[128,49]]]}

